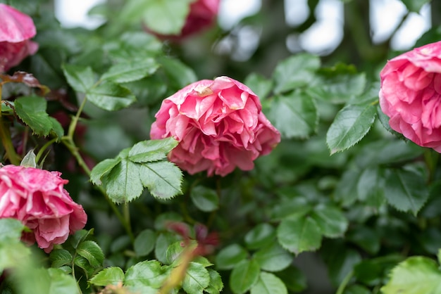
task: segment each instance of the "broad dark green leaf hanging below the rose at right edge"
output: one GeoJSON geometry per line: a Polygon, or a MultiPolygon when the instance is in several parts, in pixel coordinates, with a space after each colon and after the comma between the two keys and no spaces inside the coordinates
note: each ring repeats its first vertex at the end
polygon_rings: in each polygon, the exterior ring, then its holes
{"type": "Polygon", "coordinates": [[[389,170],[385,179],[387,203],[397,210],[416,215],[429,197],[428,186],[421,174],[408,170],[389,170]]]}

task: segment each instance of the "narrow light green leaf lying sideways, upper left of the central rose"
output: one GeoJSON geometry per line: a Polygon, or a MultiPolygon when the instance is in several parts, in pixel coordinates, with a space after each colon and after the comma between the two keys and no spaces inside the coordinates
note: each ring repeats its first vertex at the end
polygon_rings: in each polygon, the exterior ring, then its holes
{"type": "Polygon", "coordinates": [[[159,64],[156,63],[154,58],[118,63],[104,72],[101,76],[101,80],[116,83],[134,82],[148,75],[153,75],[158,68],[159,64]]]}

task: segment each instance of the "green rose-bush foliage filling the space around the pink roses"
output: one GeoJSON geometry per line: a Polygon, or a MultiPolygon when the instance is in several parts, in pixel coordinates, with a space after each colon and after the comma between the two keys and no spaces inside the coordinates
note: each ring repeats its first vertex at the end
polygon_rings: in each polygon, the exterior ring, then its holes
{"type": "MultiPolygon", "coordinates": [[[[288,27],[283,1],[263,1],[231,30],[161,41],[139,22],[174,34],[192,3],[166,2],[108,1],[91,12],[106,22],[85,30],[61,27],[52,1],[0,0],[32,16],[39,44],[0,74],[2,162],[34,150],[89,217],[49,255],[0,219],[0,293],[440,293],[439,153],[393,132],[378,106],[390,39],[366,53],[348,38],[369,30],[349,30],[326,56],[290,53],[313,13],[288,27]],[[262,28],[248,60],[216,53],[244,27],[262,28]],[[254,170],[188,174],[167,157],[178,141],[149,139],[163,98],[213,75],[247,84],[282,135],[254,170]]],[[[359,17],[346,28],[364,24],[366,2],[344,1],[359,17]]],[[[421,44],[441,37],[435,16],[421,44]]]]}

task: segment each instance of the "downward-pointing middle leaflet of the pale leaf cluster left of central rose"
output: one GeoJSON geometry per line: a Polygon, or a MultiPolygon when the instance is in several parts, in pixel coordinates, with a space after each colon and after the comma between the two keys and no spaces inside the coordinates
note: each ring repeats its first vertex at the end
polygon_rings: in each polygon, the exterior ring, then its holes
{"type": "Polygon", "coordinates": [[[114,203],[128,203],[141,196],[144,188],[139,179],[139,172],[139,165],[122,158],[111,172],[101,178],[108,198],[114,203]]]}

